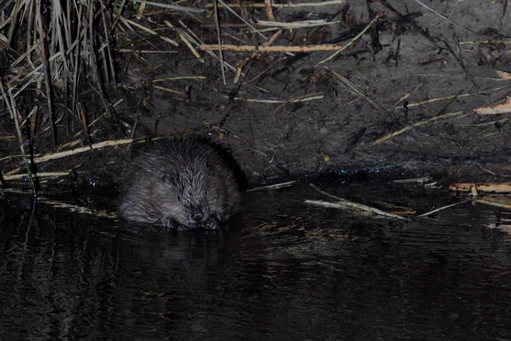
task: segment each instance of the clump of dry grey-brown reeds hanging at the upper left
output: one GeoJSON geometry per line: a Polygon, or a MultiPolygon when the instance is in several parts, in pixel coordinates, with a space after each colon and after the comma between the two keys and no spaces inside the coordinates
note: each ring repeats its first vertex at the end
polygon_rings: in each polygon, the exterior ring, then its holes
{"type": "Polygon", "coordinates": [[[29,175],[33,167],[24,146],[33,147],[37,134],[49,130],[55,149],[63,140],[57,124],[63,123],[68,133],[82,128],[84,140],[90,142],[81,90],[93,88],[116,119],[107,96],[115,85],[111,18],[116,12],[118,17],[122,7],[111,5],[92,0],[2,3],[0,16],[6,20],[0,20],[0,44],[7,65],[0,84],[2,99],[15,122],[29,175]]]}

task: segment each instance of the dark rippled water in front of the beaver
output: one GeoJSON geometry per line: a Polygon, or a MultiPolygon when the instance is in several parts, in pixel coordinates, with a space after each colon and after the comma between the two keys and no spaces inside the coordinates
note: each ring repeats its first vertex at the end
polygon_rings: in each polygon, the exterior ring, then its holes
{"type": "MultiPolygon", "coordinates": [[[[423,212],[461,200],[323,188],[423,212]]],[[[508,211],[465,203],[398,221],[303,203],[320,198],[305,185],[251,192],[218,233],[48,202],[29,225],[29,201],[14,199],[0,217],[0,339],[511,339],[508,211]]]]}

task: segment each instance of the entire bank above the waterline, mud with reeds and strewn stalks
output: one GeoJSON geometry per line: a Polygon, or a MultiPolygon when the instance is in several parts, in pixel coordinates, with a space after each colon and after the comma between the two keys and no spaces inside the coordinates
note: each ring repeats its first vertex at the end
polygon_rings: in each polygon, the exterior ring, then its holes
{"type": "Polygon", "coordinates": [[[474,0],[6,1],[0,174],[32,173],[36,193],[38,174],[120,173],[133,141],[194,132],[255,182],[503,176],[509,15],[474,0]]]}

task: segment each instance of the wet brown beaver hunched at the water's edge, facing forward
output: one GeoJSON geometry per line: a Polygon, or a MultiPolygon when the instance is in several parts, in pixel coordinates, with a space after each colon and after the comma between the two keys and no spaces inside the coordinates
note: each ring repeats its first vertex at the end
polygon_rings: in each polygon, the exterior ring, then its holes
{"type": "Polygon", "coordinates": [[[233,168],[210,141],[162,141],[130,163],[119,216],[179,229],[217,229],[241,209],[243,194],[233,168]]]}

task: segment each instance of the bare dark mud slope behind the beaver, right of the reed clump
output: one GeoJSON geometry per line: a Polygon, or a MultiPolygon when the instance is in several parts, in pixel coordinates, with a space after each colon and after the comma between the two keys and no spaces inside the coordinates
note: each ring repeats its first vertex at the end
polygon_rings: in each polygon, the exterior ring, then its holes
{"type": "MultiPolygon", "coordinates": [[[[472,109],[496,103],[508,91],[508,81],[495,73],[510,66],[506,43],[489,41],[505,40],[509,25],[504,20],[497,31],[495,18],[501,10],[497,4],[469,1],[456,8],[456,2],[433,5],[441,5],[434,9],[450,15],[466,29],[414,3],[392,4],[395,11],[382,3],[367,7],[353,2],[310,7],[309,13],[277,10],[284,22],[313,18],[339,21],[284,31],[278,45],[346,43],[375,13],[381,12],[383,17],[351,48],[317,67],[314,65],[333,52],[261,54],[243,70],[245,76],[239,84],[233,84],[234,76],[227,72],[224,86],[218,61],[205,59],[201,64],[185,46],[178,48],[178,54],[165,57],[146,54],[148,62],[130,64],[128,68],[143,67],[143,72],[159,66],[152,78],[206,78],[167,83],[173,89],[187,90],[186,96],[152,89],[139,122],[155,135],[190,128],[200,129],[214,139],[222,134],[235,159],[256,181],[289,174],[389,166],[416,173],[459,171],[461,176],[477,176],[485,173],[477,167],[481,165],[500,171],[499,175],[508,174],[509,126],[507,120],[496,123],[506,117],[477,115],[472,109]],[[360,92],[336,74],[347,78],[360,92]],[[286,102],[310,94],[324,97],[286,102]],[[407,98],[400,101],[404,96],[407,98]],[[264,99],[283,103],[254,101],[264,99]],[[375,143],[403,127],[451,112],[461,113],[375,143]]],[[[228,19],[236,21],[224,17],[228,19]]],[[[201,29],[208,34],[208,41],[214,42],[211,24],[201,29]]],[[[227,33],[240,33],[243,28],[226,25],[222,30],[224,43],[236,43],[227,33]]],[[[244,39],[254,42],[258,37],[244,39]]],[[[224,58],[235,65],[246,55],[225,51],[224,58]]],[[[145,75],[151,76],[151,72],[145,75]]],[[[130,89],[127,99],[134,107],[126,112],[140,110],[136,103],[147,95],[142,90],[130,89]]]]}

